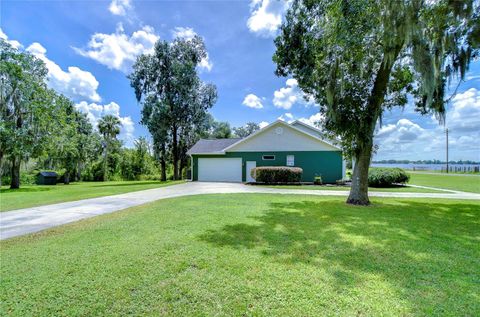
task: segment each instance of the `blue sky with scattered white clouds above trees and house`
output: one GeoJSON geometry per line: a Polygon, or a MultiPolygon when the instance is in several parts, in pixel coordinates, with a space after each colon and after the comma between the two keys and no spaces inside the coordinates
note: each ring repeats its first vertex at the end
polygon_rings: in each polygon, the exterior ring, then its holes
{"type": "MultiPolygon", "coordinates": [[[[278,118],[313,123],[318,107],[296,82],[274,75],[277,34],[288,3],[252,1],[11,1],[0,3],[0,36],[43,59],[49,85],[71,97],[93,123],[120,117],[127,145],[148,132],[126,78],[138,54],[158,40],[202,36],[208,59],[199,72],[218,89],[211,113],[240,126],[278,118]]],[[[451,159],[480,160],[480,62],[448,105],[451,159]]],[[[385,113],[375,159],[443,159],[443,126],[412,107],[385,113]]]]}

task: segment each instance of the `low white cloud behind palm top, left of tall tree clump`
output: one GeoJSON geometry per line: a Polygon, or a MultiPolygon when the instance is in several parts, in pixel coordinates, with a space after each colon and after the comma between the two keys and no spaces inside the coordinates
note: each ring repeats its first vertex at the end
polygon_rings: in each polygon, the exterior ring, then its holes
{"type": "Polygon", "coordinates": [[[101,105],[96,103],[88,103],[86,101],[79,102],[75,107],[87,114],[87,118],[90,120],[92,125],[97,128],[98,121],[104,115],[111,114],[116,116],[122,126],[120,128],[119,139],[123,140],[127,146],[132,146],[133,144],[133,132],[135,131],[135,124],[132,121],[130,116],[121,117],[120,116],[120,106],[115,102],[110,102],[109,104],[101,105]]]}

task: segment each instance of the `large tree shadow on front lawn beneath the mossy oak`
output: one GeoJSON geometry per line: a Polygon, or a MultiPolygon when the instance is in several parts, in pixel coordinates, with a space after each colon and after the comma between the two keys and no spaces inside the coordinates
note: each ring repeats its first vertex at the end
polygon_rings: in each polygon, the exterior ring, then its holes
{"type": "Polygon", "coordinates": [[[445,306],[454,295],[463,307],[480,291],[472,280],[480,274],[480,208],[473,203],[271,203],[252,218],[255,224],[226,225],[200,239],[287,265],[313,265],[330,272],[339,288],[375,276],[413,306],[445,306]]]}

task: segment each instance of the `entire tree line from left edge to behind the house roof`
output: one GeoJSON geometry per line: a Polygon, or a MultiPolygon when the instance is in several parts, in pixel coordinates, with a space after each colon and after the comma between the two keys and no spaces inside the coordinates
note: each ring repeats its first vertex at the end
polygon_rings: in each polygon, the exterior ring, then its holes
{"type": "Polygon", "coordinates": [[[208,113],[216,88],[203,83],[196,65],[205,56],[200,38],[158,42],[137,59],[129,76],[153,142],[133,148],[118,139],[121,122],[106,114],[94,126],[72,100],[48,88],[43,61],[0,39],[0,185],[34,182],[39,170],[61,180],[180,179],[188,149],[200,138],[245,137],[256,123],[231,128],[208,113]],[[153,144],[151,144],[153,143],[153,144]]]}

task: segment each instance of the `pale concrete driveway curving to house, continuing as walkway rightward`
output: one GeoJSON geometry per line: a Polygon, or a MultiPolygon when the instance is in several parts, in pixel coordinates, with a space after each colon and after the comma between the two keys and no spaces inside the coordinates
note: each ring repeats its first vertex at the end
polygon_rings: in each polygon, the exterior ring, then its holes
{"type": "MultiPolygon", "coordinates": [[[[346,196],[348,191],[281,189],[248,186],[238,183],[183,183],[126,194],[84,199],[60,204],[6,211],[0,213],[0,239],[7,239],[80,219],[119,211],[159,199],[222,193],[269,193],[318,196],[346,196]]],[[[480,194],[370,192],[373,197],[476,199],[480,194]]]]}

